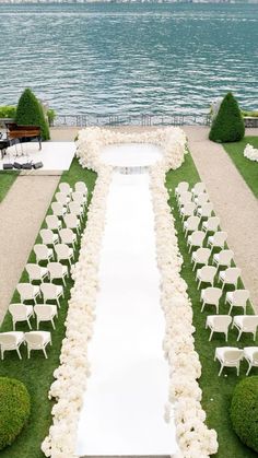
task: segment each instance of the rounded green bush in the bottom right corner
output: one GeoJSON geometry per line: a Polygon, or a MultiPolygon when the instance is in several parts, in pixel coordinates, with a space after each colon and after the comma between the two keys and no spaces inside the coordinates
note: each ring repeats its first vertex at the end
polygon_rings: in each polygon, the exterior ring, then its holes
{"type": "Polygon", "coordinates": [[[233,394],[231,420],[239,439],[258,453],[258,377],[243,379],[233,394]]]}

